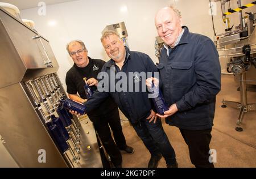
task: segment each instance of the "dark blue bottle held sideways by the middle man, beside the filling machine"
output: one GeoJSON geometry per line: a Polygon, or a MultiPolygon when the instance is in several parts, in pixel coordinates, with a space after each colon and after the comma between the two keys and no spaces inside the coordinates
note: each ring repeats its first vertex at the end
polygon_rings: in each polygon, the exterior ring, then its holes
{"type": "Polygon", "coordinates": [[[67,110],[74,110],[81,115],[85,114],[85,110],[86,110],[85,105],[82,105],[70,99],[61,100],[61,103],[63,107],[66,108],[67,110]]]}

